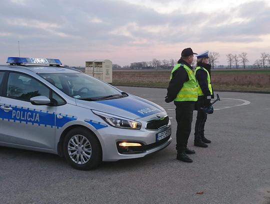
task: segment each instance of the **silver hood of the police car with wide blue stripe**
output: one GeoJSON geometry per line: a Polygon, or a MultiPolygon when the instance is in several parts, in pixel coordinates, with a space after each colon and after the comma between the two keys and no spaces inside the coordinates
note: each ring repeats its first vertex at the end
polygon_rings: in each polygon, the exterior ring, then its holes
{"type": "Polygon", "coordinates": [[[76,99],[76,104],[83,108],[97,110],[132,120],[164,111],[159,105],[133,95],[101,101],[83,101],[76,99]]]}

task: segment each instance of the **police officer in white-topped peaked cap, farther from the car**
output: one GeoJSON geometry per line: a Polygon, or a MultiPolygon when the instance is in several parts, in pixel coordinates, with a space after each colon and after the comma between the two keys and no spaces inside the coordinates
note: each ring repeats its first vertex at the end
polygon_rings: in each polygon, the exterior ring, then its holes
{"type": "Polygon", "coordinates": [[[211,65],[207,64],[209,58],[208,52],[209,51],[204,51],[196,55],[197,65],[194,72],[198,87],[198,100],[196,102],[197,118],[194,133],[194,146],[198,147],[208,147],[206,143],[211,143],[211,141],[209,139],[206,139],[204,136],[204,125],[207,119],[207,114],[203,112],[204,107],[209,107],[211,105],[211,98],[213,98],[209,73],[211,70],[211,65]]]}

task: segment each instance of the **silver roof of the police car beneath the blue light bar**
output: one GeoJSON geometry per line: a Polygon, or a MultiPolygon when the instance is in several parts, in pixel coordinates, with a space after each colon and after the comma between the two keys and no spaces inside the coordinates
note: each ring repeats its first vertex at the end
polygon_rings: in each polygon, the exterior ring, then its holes
{"type": "Polygon", "coordinates": [[[34,73],[80,73],[81,71],[70,67],[44,66],[44,65],[0,65],[0,70],[19,69],[29,70],[34,73]]]}

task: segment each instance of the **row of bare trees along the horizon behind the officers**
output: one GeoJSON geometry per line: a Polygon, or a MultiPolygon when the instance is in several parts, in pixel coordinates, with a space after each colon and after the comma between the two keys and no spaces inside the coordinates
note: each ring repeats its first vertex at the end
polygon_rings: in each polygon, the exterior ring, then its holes
{"type": "MultiPolygon", "coordinates": [[[[212,69],[214,68],[214,66],[216,66],[217,63],[219,63],[218,59],[220,58],[219,53],[217,52],[210,52],[208,54],[208,64],[211,65],[212,69]]],[[[231,69],[232,66],[235,66],[236,69],[239,68],[240,65],[243,66],[243,68],[245,69],[246,66],[249,63],[249,60],[247,59],[247,53],[246,52],[242,52],[241,54],[237,55],[237,54],[227,54],[226,55],[226,60],[227,60],[227,65],[228,68],[231,69]]],[[[178,60],[157,60],[157,59],[152,59],[152,61],[149,62],[133,62],[130,64],[130,66],[126,65],[123,68],[125,69],[172,69],[176,64],[177,64],[178,60]]],[[[257,67],[257,68],[261,68],[263,67],[263,69],[266,67],[266,65],[270,66],[270,54],[267,53],[261,53],[260,55],[260,59],[255,60],[255,62],[253,63],[253,67],[257,67]]],[[[194,58],[192,64],[192,67],[196,66],[196,59],[194,58]]],[[[220,66],[221,68],[223,68],[223,65],[220,66]]],[[[113,64],[112,68],[120,68],[119,65],[117,64],[113,64]]]]}

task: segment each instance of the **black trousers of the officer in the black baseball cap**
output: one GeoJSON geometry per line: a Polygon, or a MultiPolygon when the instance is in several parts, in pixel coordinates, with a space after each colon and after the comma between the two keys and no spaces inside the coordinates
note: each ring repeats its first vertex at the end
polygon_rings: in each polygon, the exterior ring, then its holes
{"type": "Polygon", "coordinates": [[[176,150],[178,153],[184,152],[187,140],[191,132],[191,123],[195,102],[193,101],[174,101],[176,106],[176,150]]]}

